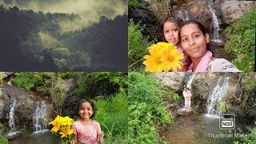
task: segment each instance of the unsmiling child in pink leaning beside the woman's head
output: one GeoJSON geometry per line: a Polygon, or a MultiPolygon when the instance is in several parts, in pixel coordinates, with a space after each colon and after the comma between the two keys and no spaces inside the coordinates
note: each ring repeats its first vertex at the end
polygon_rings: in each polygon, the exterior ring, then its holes
{"type": "MultiPolygon", "coordinates": [[[[165,20],[162,22],[162,34],[166,42],[171,42],[174,44],[174,46],[177,46],[179,54],[185,54],[182,50],[180,38],[178,36],[178,31],[180,30],[181,23],[182,19],[178,17],[169,16],[165,18],[165,20]]],[[[186,70],[190,66],[190,57],[186,54],[184,56],[184,59],[181,60],[183,64],[182,70],[178,69],[177,72],[186,72],[186,70]]]]}

